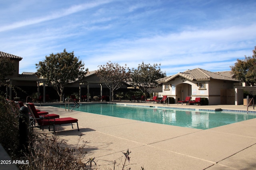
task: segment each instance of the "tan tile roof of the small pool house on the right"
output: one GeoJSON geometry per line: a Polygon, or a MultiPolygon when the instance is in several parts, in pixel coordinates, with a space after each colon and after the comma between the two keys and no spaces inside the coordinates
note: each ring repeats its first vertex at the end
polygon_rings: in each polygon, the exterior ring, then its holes
{"type": "Polygon", "coordinates": [[[184,78],[187,78],[189,80],[196,80],[196,81],[204,81],[204,80],[226,80],[226,81],[233,81],[233,82],[239,82],[239,80],[236,80],[235,78],[232,78],[228,73],[224,72],[210,72],[201,68],[195,68],[193,70],[186,70],[184,72],[179,72],[177,74],[174,74],[172,76],[160,78],[156,80],[159,83],[168,82],[175,78],[176,76],[182,76],[184,78]]]}

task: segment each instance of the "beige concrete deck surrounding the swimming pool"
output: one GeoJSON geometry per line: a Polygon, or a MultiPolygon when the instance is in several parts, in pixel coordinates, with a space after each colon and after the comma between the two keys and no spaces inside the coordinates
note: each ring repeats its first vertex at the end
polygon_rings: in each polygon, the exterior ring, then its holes
{"type": "MultiPolygon", "coordinates": [[[[163,106],[153,103],[127,104],[163,106]]],[[[246,106],[242,105],[170,104],[168,107],[246,110],[246,106]]],[[[131,151],[127,168],[132,170],[140,170],[141,166],[146,170],[256,168],[256,119],[201,130],[80,111],[65,111],[57,107],[38,108],[59,114],[60,117],[78,119],[80,131],[77,131],[76,125],[74,129],[70,125],[56,126],[57,135],[60,139],[65,139],[70,147],[74,147],[82,133],[82,139],[89,142],[85,147],[88,152],[86,158],[95,157],[97,161],[94,169],[114,169],[114,160],[116,166],[121,163],[122,152],[127,149],[131,151]]],[[[252,106],[249,110],[254,111],[252,106]]],[[[47,128],[44,131],[35,128],[35,132],[52,134],[47,128]]]]}

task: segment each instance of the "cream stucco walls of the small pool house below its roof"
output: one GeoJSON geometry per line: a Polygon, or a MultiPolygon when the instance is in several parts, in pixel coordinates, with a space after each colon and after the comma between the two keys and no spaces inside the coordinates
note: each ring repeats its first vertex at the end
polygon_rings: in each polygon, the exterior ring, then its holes
{"type": "Polygon", "coordinates": [[[173,97],[176,103],[178,99],[184,100],[186,96],[191,96],[192,100],[195,100],[196,97],[208,98],[209,105],[234,104],[233,88],[234,84],[232,82],[223,80],[191,81],[179,76],[172,81],[163,83],[160,95],[173,97]],[[205,83],[205,89],[200,89],[200,83],[205,83]],[[164,89],[166,84],[169,85],[169,89],[164,89]],[[225,102],[223,103],[223,101],[225,102]]]}

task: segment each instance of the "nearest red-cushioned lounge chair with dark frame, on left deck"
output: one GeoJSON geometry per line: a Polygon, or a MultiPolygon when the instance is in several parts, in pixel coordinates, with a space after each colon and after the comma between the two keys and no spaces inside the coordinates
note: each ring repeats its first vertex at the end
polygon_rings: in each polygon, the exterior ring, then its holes
{"type": "MultiPolygon", "coordinates": [[[[34,104],[32,103],[28,103],[27,106],[28,107],[33,107],[34,104]]],[[[31,108],[30,107],[30,108],[31,108]]],[[[32,116],[34,118],[34,120],[36,121],[36,123],[42,127],[42,130],[44,130],[44,126],[48,126],[48,129],[50,131],[50,125],[53,126],[53,131],[55,133],[55,125],[64,125],[64,124],[69,124],[71,123],[72,125],[72,129],[73,129],[73,124],[72,123],[76,123],[77,125],[77,129],[79,131],[79,127],[78,127],[78,119],[74,119],[72,117],[64,117],[64,118],[58,118],[58,119],[51,119],[50,117],[48,117],[48,119],[42,119],[42,117],[40,117],[39,115],[36,115],[33,113],[32,111],[32,116]]]]}

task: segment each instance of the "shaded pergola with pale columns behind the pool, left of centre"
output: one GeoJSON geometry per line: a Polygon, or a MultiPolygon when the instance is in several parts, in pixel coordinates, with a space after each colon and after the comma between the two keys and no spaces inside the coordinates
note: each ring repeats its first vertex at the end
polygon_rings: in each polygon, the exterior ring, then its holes
{"type": "MultiPolygon", "coordinates": [[[[113,82],[102,82],[102,81],[79,81],[79,100],[81,101],[82,94],[81,94],[81,86],[87,85],[87,94],[89,94],[90,84],[100,84],[100,96],[102,96],[102,85],[110,84],[113,85],[113,82]]],[[[109,90],[110,101],[112,100],[112,92],[109,90]]],[[[89,96],[87,96],[87,101],[89,101],[89,96]]]]}

